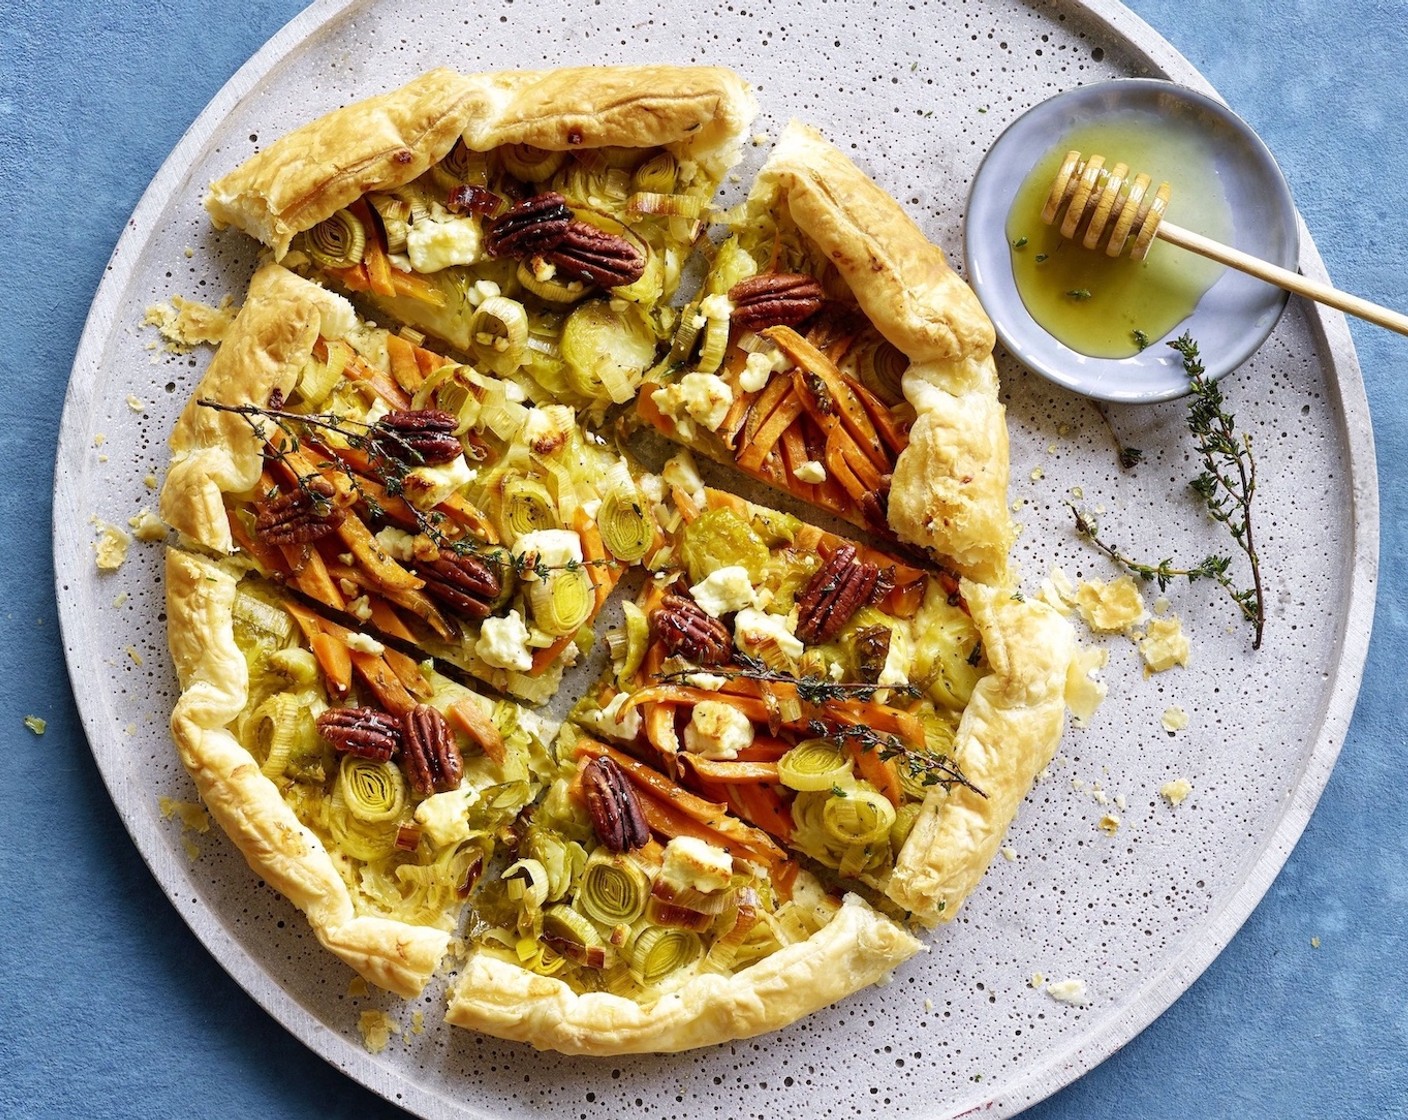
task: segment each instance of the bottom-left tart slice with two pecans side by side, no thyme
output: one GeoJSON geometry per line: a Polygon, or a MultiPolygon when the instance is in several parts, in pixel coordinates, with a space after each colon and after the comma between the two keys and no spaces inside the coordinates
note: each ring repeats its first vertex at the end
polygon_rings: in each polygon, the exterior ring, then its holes
{"type": "Polygon", "coordinates": [[[166,603],[172,733],[206,806],[331,952],[420,993],[552,728],[234,561],[169,549],[166,603]]]}

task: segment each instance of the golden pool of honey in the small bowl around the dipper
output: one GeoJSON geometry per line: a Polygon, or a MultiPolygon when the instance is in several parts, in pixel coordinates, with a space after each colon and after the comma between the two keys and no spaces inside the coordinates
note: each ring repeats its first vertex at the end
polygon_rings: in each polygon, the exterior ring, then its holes
{"type": "Polygon", "coordinates": [[[1107,166],[1128,163],[1155,186],[1167,182],[1167,220],[1217,241],[1232,239],[1232,211],[1208,145],[1146,113],[1070,128],[1022,180],[1007,216],[1007,244],[1028,314],[1079,354],[1128,358],[1193,314],[1225,269],[1170,245],[1155,245],[1143,261],[1111,258],[1104,242],[1087,249],[1080,234],[1067,239],[1042,223],[1052,179],[1073,149],[1104,152],[1107,166]]]}

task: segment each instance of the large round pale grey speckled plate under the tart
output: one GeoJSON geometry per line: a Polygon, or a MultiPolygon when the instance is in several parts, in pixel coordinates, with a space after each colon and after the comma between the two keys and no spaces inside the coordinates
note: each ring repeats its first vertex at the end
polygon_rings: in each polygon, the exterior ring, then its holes
{"type": "MultiPolygon", "coordinates": [[[[1090,728],[1069,733],[1011,830],[1010,858],[891,985],[784,1031],[669,1057],[562,1058],[445,1027],[439,986],[411,1006],[351,995],[352,973],[224,837],[183,833],[158,804],[193,797],[166,733],[176,685],[161,549],[137,544],[121,571],[100,576],[90,518],[121,524],[155,503],[148,479],[162,472],[166,433],[210,355],[155,348],[142,311],[172,294],[214,303],[244,292],[253,247],[214,232],[200,194],[269,138],[446,62],[727,63],[758,89],[759,132],[776,135],[793,116],[821,125],[959,259],[969,182],[1022,111],[1121,75],[1207,89],[1104,0],[777,0],[766,17],[707,8],[320,3],[230,82],[138,206],[75,363],[54,525],[75,692],[118,811],[197,935],[307,1045],[415,1113],[1011,1114],[1122,1045],[1193,982],[1262,897],[1329,773],[1359,685],[1377,555],[1367,406],[1338,316],[1293,303],[1224,382],[1259,455],[1263,649],[1249,651],[1246,630],[1205,583],[1170,592],[1193,638],[1187,669],[1145,678],[1128,638],[1102,640],[1111,697],[1090,728]],[[1187,730],[1160,727],[1170,707],[1188,713],[1187,730]],[[1173,810],[1157,790],[1180,776],[1193,793],[1173,810]],[[1112,835],[1100,827],[1107,813],[1119,817],[1112,835]],[[1055,1002],[1029,985],[1033,972],[1086,981],[1090,1004],[1055,1002]],[[370,1007],[407,1027],[420,1010],[425,1030],[367,1054],[356,1020],[370,1007]]],[[[765,155],[765,145],[749,151],[742,182],[765,155]]],[[[1304,244],[1301,266],[1319,275],[1304,244]]],[[[1146,454],[1126,473],[1088,402],[1000,359],[1028,592],[1052,562],[1073,576],[1111,575],[1073,535],[1067,499],[1101,510],[1104,531],[1129,548],[1222,548],[1187,496],[1177,403],[1111,410],[1125,442],[1146,454]]]]}

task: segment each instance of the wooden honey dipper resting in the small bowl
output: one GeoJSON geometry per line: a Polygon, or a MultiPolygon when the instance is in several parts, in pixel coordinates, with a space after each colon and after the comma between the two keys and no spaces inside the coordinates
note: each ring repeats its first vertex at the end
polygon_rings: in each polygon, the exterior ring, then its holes
{"type": "Polygon", "coordinates": [[[1298,272],[1278,268],[1240,249],[1233,249],[1231,245],[1224,245],[1221,241],[1166,221],[1164,213],[1169,209],[1173,189],[1167,183],[1160,183],[1159,189],[1150,194],[1152,186],[1153,180],[1143,172],[1131,179],[1126,163],[1115,163],[1107,170],[1102,155],[1087,158],[1071,151],[1066,154],[1060,170],[1052,179],[1050,194],[1046,196],[1046,206],[1042,207],[1042,221],[1055,225],[1064,209],[1064,217],[1060,220],[1060,235],[1074,238],[1084,223],[1080,244],[1087,249],[1098,248],[1101,239],[1105,239],[1107,256],[1119,256],[1128,247],[1131,259],[1142,261],[1148,256],[1155,238],[1160,238],[1170,245],[1207,256],[1287,292],[1336,307],[1369,323],[1377,323],[1398,334],[1408,334],[1408,316],[1380,307],[1359,296],[1350,296],[1338,287],[1307,280],[1298,272]],[[1107,230],[1108,238],[1105,237],[1107,230]]]}

